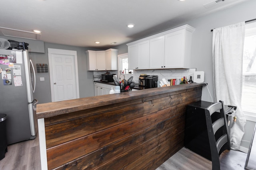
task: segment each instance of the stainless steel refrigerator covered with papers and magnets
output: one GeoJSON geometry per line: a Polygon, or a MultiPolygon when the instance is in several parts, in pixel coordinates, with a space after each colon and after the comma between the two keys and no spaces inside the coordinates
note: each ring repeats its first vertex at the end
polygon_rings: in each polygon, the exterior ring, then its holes
{"type": "Polygon", "coordinates": [[[35,139],[35,71],[27,50],[0,49],[0,113],[7,115],[7,144],[35,139]]]}

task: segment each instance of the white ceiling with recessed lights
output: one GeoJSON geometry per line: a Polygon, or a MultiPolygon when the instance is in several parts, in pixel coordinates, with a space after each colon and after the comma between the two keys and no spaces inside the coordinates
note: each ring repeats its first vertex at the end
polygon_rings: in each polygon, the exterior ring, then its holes
{"type": "Polygon", "coordinates": [[[0,35],[107,49],[244,1],[2,0],[0,35]]]}

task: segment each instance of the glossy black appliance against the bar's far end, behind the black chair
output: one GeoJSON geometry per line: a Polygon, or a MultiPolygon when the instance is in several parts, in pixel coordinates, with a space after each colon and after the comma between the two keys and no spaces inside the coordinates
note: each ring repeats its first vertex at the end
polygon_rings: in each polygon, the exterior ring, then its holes
{"type": "MultiPolygon", "coordinates": [[[[212,160],[210,144],[208,139],[206,118],[204,109],[210,106],[211,102],[198,101],[187,105],[185,121],[184,146],[193,152],[212,160]]],[[[227,117],[228,130],[234,125],[236,106],[224,105],[227,117]]],[[[218,112],[212,114],[212,119],[218,118],[218,112]]]]}

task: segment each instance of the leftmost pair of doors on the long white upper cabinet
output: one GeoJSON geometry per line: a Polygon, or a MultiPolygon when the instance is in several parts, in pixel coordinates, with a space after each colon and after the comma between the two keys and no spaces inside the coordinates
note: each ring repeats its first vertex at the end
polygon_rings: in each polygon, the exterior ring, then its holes
{"type": "Polygon", "coordinates": [[[149,40],[128,46],[129,70],[149,68],[149,40]]]}

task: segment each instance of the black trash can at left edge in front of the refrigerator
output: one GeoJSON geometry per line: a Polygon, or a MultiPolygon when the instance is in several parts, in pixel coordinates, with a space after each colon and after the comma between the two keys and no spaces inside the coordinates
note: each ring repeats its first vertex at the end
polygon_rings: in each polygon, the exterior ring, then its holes
{"type": "Polygon", "coordinates": [[[6,137],[6,114],[0,114],[0,160],[5,157],[7,152],[7,137],[6,137]]]}

